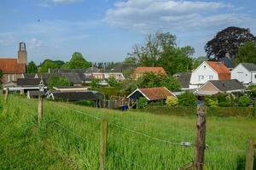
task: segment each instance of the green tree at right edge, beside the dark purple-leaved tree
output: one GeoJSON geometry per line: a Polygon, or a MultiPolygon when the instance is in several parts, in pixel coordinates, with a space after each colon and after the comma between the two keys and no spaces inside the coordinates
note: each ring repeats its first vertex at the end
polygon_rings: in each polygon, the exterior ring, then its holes
{"type": "Polygon", "coordinates": [[[256,44],[255,42],[245,42],[238,48],[238,53],[235,59],[236,65],[239,63],[254,63],[256,64],[256,44]]]}

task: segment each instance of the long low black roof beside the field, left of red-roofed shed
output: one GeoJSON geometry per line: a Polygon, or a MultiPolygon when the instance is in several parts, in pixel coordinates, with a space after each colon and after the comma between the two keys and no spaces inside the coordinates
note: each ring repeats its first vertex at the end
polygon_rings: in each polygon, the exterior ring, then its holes
{"type": "Polygon", "coordinates": [[[55,99],[61,99],[65,101],[81,101],[81,100],[96,100],[98,99],[93,92],[59,92],[53,91],[55,99]]]}

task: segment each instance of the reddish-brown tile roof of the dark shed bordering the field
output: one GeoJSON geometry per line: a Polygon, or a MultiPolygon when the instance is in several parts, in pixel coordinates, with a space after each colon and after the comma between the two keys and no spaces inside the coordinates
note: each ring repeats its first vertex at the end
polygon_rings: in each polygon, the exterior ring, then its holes
{"type": "Polygon", "coordinates": [[[174,96],[167,88],[139,88],[149,100],[166,99],[167,96],[174,96]]]}

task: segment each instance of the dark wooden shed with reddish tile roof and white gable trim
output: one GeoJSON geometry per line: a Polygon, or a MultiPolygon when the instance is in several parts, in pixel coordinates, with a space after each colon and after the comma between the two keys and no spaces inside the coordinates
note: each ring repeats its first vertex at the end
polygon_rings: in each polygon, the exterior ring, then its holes
{"type": "Polygon", "coordinates": [[[129,99],[129,105],[136,105],[137,99],[145,97],[148,103],[165,100],[168,96],[176,97],[165,87],[161,88],[137,88],[134,92],[127,96],[129,99]]]}

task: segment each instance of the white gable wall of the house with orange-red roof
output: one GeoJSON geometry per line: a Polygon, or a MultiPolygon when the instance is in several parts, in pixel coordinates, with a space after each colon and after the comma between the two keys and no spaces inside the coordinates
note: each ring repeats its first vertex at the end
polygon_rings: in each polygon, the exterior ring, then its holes
{"type": "Polygon", "coordinates": [[[209,80],[218,80],[218,74],[206,62],[203,62],[192,72],[189,88],[199,88],[209,80]]]}

